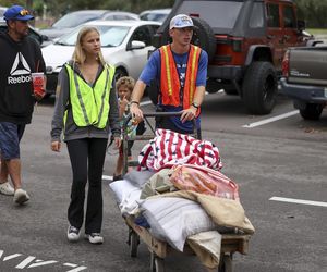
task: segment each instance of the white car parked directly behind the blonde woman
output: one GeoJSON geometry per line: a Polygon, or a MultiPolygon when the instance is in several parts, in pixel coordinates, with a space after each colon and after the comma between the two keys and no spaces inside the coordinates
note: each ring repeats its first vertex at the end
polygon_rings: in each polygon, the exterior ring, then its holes
{"type": "Polygon", "coordinates": [[[56,92],[58,74],[75,48],[77,34],[83,26],[95,26],[100,33],[105,60],[116,66],[116,78],[124,75],[137,79],[148,53],[155,49],[152,39],[158,22],[150,21],[93,21],[80,25],[71,33],[41,49],[47,66],[47,95],[56,92]]]}

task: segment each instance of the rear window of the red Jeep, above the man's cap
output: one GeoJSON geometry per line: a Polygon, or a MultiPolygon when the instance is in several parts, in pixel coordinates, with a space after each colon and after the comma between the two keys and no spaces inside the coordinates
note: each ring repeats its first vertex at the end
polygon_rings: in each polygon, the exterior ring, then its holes
{"type": "Polygon", "coordinates": [[[182,13],[199,16],[209,25],[232,29],[242,4],[243,1],[183,1],[179,10],[182,13]]]}

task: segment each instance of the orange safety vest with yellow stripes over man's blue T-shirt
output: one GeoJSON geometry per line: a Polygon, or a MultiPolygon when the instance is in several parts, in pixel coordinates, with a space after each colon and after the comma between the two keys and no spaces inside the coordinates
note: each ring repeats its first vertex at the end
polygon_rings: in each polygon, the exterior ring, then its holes
{"type": "Polygon", "coordinates": [[[183,89],[183,101],[180,101],[181,83],[171,48],[170,46],[162,46],[159,51],[161,60],[160,90],[162,104],[174,107],[182,104],[183,109],[190,108],[196,89],[196,75],[201,48],[191,45],[183,89]]]}

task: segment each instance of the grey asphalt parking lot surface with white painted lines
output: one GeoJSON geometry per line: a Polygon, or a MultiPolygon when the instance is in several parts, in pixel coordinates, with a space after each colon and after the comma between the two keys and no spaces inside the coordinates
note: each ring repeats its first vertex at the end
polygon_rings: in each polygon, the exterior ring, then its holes
{"type": "MultiPolygon", "coordinates": [[[[144,106],[152,110],[152,106],[144,106]]],[[[65,146],[50,151],[53,100],[41,102],[22,140],[24,207],[0,196],[0,271],[148,271],[141,243],[130,257],[128,227],[108,187],[116,158],[104,170],[105,244],[70,244],[65,237],[71,169],[65,146]]],[[[327,111],[303,121],[279,97],[274,112],[249,115],[237,97],[209,95],[203,107],[203,137],[216,144],[222,172],[240,186],[241,202],[256,228],[249,255],[234,255],[235,272],[325,272],[327,268],[327,111]]],[[[136,156],[142,143],[136,143],[136,156]]],[[[206,271],[195,256],[172,254],[167,271],[206,271]]]]}

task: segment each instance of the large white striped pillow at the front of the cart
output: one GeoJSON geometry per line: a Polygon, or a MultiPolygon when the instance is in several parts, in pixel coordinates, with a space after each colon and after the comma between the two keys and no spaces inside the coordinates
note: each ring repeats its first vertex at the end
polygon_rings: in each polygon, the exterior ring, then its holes
{"type": "Polygon", "coordinates": [[[150,233],[183,251],[187,236],[217,228],[196,202],[177,197],[150,198],[140,203],[150,233]]]}

